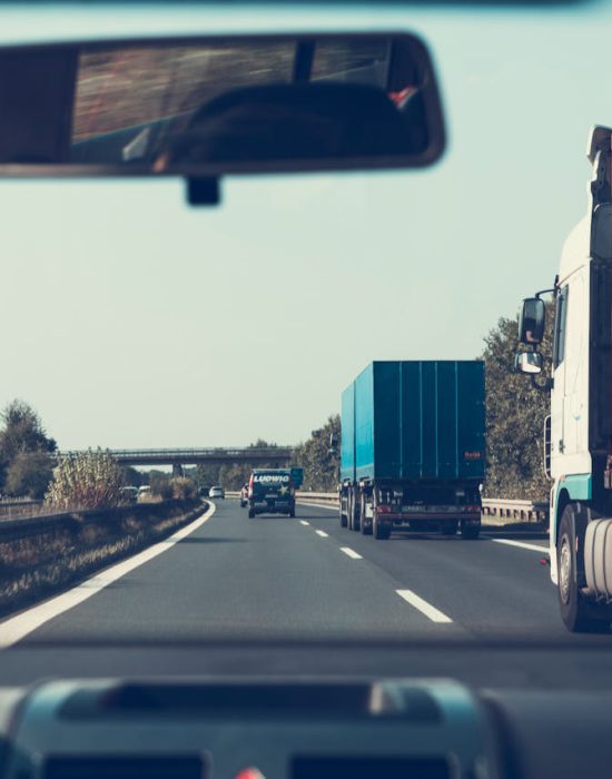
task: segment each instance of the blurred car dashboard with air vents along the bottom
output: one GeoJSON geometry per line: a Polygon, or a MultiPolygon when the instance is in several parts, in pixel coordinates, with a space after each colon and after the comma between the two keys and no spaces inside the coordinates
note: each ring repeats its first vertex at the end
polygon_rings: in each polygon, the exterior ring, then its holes
{"type": "Polygon", "coordinates": [[[596,777],[611,704],[445,679],[46,681],[0,690],[0,777],[596,777]]]}

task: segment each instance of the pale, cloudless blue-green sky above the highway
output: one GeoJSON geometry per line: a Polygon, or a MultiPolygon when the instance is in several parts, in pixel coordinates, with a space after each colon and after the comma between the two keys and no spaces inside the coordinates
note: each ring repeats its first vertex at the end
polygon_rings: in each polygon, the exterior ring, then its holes
{"type": "Polygon", "coordinates": [[[0,183],[0,405],[61,447],[296,443],[371,359],[471,358],[549,286],[584,213],[588,129],[612,124],[608,4],[375,12],[10,10],[3,40],[214,30],[417,30],[451,142],[432,170],[0,183]]]}

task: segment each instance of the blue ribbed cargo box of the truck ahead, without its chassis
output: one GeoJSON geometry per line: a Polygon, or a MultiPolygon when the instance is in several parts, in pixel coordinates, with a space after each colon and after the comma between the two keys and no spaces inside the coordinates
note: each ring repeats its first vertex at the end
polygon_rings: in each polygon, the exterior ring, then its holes
{"type": "Polygon", "coordinates": [[[343,393],[343,480],[482,481],[484,475],[481,361],[374,362],[343,393]]]}

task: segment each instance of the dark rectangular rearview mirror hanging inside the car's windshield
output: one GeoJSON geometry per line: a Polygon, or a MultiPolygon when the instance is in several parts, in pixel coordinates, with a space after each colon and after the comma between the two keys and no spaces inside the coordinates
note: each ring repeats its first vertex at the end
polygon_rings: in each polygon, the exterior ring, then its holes
{"type": "Polygon", "coordinates": [[[166,38],[0,49],[0,176],[432,165],[445,138],[412,34],[166,38]]]}

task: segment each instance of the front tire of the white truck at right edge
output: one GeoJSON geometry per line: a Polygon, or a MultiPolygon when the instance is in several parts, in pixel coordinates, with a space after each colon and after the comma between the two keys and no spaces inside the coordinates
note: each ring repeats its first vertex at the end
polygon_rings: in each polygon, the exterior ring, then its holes
{"type": "MultiPolygon", "coordinates": [[[[578,585],[576,532],[580,536],[575,504],[567,504],[561,515],[556,542],[556,570],[559,572],[559,609],[561,619],[571,633],[603,633],[610,630],[612,614],[609,608],[591,603],[578,585]],[[576,531],[578,527],[578,531],[576,531]]],[[[582,554],[582,538],[580,538],[582,554]]]]}

